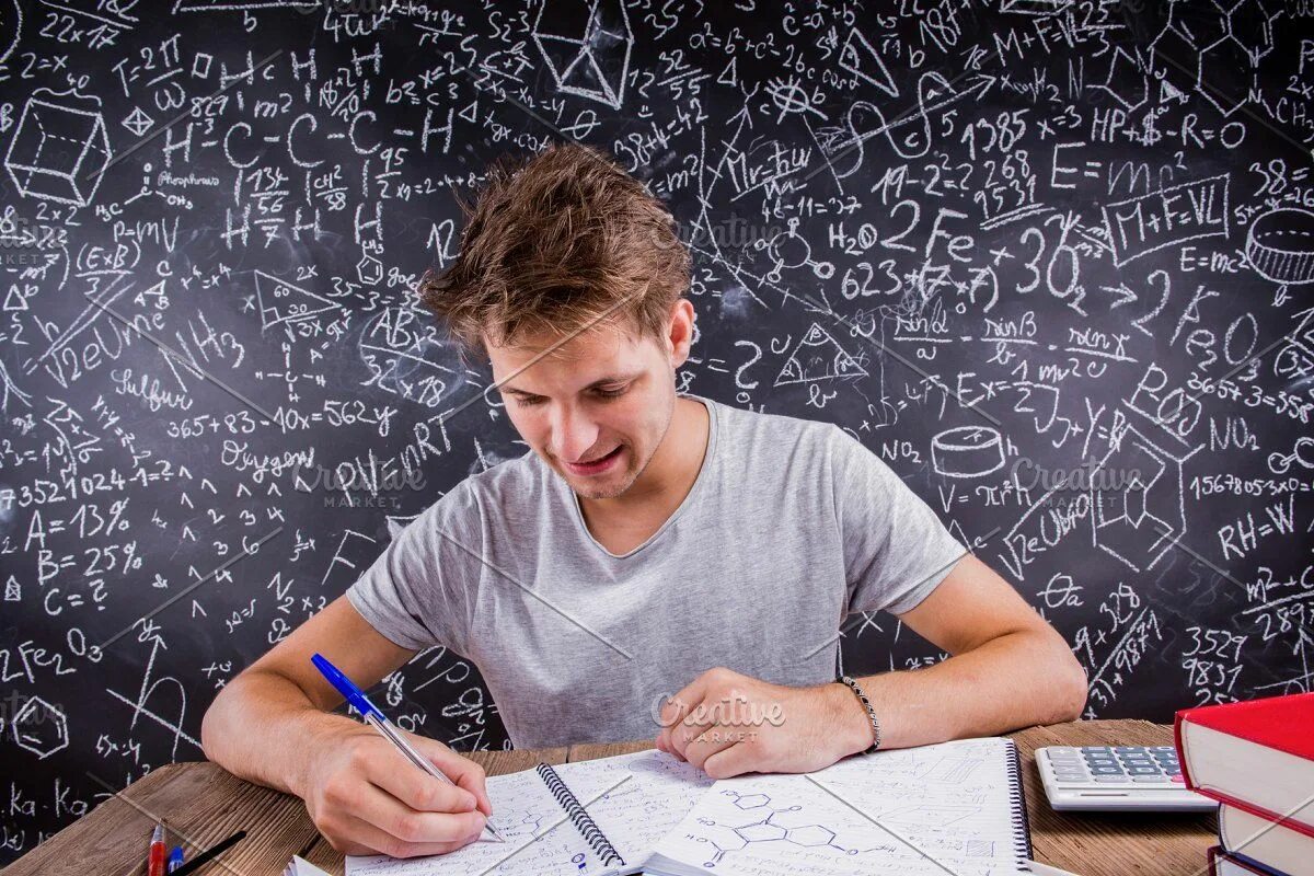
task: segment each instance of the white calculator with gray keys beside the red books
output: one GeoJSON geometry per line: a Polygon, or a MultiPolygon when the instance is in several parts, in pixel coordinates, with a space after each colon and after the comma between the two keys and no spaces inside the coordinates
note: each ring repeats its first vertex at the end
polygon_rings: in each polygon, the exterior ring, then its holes
{"type": "Polygon", "coordinates": [[[1035,768],[1058,810],[1212,812],[1217,802],[1188,791],[1171,745],[1046,746],[1035,768]]]}

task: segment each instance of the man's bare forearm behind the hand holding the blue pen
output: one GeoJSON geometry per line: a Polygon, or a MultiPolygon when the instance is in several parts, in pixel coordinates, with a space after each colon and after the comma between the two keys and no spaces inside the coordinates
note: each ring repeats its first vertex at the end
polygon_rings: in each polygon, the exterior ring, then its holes
{"type": "Polygon", "coordinates": [[[229,772],[300,796],[315,738],[350,724],[356,722],[315,708],[288,679],[248,672],[214,699],[201,721],[201,746],[229,772]]]}

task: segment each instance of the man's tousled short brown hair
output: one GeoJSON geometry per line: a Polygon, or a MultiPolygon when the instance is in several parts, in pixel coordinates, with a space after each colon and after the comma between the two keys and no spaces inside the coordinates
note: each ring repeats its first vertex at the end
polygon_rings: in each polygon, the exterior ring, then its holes
{"type": "Polygon", "coordinates": [[[468,352],[561,338],[594,323],[661,340],[689,290],[690,256],[675,221],[603,152],[552,144],[493,162],[470,205],[460,253],[419,282],[420,303],[468,352]]]}

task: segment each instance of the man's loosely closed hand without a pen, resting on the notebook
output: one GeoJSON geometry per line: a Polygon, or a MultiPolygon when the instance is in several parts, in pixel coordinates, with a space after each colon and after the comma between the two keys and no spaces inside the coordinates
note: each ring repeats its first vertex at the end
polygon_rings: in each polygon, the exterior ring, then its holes
{"type": "Polygon", "coordinates": [[[784,687],[728,668],[699,675],[660,720],[657,747],[714,779],[812,772],[871,745],[867,712],[846,686],[784,687]]]}

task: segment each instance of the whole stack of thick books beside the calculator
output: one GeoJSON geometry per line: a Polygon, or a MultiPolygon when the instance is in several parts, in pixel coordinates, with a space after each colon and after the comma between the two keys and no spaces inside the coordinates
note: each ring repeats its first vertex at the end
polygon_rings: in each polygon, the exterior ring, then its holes
{"type": "Polygon", "coordinates": [[[1314,873],[1314,693],[1177,712],[1187,787],[1217,800],[1213,873],[1314,873]]]}

